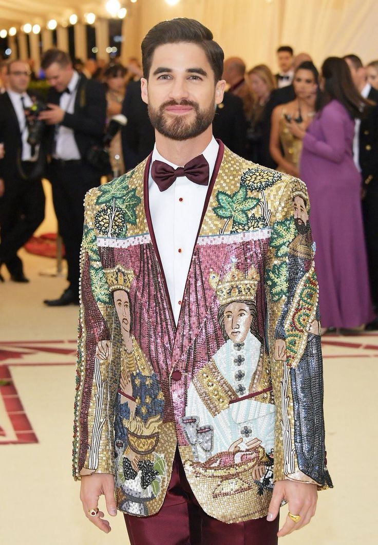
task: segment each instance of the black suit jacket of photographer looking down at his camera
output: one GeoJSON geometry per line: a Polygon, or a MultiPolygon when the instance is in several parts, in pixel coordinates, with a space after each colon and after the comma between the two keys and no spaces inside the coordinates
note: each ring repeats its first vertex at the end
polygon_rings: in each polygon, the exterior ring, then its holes
{"type": "MultiPolygon", "coordinates": [[[[59,104],[60,93],[53,87],[47,95],[47,102],[59,104]]],[[[65,113],[61,125],[74,131],[75,142],[81,159],[86,161],[89,149],[100,145],[105,130],[106,96],[105,88],[101,83],[87,80],[81,74],[78,81],[74,113],[65,113]]],[[[54,139],[54,125],[47,131],[48,151],[52,152],[54,139]]]]}

